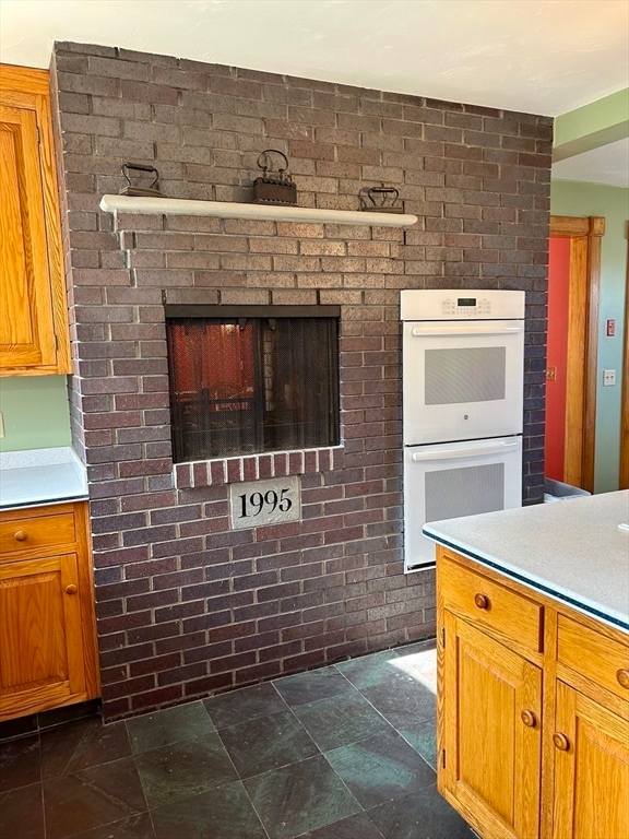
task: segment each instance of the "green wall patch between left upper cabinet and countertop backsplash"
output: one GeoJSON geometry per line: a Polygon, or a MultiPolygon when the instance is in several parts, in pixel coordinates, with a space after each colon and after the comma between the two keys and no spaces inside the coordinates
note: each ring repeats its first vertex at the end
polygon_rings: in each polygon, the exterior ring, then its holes
{"type": "Polygon", "coordinates": [[[0,379],[4,439],[0,451],[70,446],[66,376],[15,376],[0,379]]]}

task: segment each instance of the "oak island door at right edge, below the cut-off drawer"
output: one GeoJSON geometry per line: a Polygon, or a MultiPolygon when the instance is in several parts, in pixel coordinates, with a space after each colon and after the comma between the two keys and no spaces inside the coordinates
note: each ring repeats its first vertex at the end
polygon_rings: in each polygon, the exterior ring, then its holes
{"type": "Polygon", "coordinates": [[[627,839],[629,713],[558,682],[555,723],[554,839],[627,839]]]}

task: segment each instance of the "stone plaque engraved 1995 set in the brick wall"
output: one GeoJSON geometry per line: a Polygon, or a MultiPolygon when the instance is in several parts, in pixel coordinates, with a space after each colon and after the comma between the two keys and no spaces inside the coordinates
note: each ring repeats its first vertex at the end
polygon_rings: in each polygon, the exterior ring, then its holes
{"type": "Polygon", "coordinates": [[[301,481],[297,475],[229,484],[232,530],[301,519],[301,481]]]}

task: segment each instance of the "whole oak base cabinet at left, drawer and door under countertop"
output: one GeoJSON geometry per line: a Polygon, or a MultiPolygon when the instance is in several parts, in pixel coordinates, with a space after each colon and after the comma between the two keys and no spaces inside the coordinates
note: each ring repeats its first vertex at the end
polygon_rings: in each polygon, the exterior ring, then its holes
{"type": "Polygon", "coordinates": [[[87,504],[0,512],[0,720],[99,694],[87,504]]]}

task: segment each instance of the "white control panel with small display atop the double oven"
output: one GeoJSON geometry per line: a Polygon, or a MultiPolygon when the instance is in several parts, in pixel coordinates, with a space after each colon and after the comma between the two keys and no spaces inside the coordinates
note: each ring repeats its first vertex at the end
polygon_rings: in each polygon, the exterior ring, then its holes
{"type": "Polygon", "coordinates": [[[417,288],[400,295],[402,320],[522,320],[524,292],[417,288]]]}

